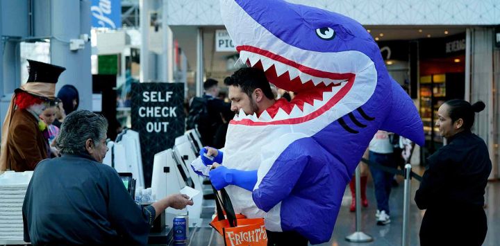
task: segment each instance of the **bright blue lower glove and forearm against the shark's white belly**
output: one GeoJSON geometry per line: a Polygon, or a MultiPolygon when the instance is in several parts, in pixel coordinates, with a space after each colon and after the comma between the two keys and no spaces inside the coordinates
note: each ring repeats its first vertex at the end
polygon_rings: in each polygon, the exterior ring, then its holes
{"type": "Polygon", "coordinates": [[[211,170],[209,174],[210,182],[217,191],[230,184],[244,188],[247,191],[253,191],[253,187],[257,183],[257,170],[242,171],[219,166],[211,170]]]}

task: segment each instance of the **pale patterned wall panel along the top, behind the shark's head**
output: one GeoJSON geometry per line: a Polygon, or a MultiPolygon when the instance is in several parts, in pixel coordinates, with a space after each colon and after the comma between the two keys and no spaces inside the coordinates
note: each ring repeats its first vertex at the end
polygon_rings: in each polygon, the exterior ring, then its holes
{"type": "MultiPolygon", "coordinates": [[[[500,24],[499,0],[288,0],[339,12],[363,25],[500,24]]],[[[169,25],[222,25],[219,0],[168,0],[169,25]]]]}

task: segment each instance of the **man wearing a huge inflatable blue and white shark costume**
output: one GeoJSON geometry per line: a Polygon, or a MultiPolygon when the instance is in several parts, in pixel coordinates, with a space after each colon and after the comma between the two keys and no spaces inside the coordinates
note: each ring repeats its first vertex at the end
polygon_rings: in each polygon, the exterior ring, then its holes
{"type": "Polygon", "coordinates": [[[424,143],[417,109],[357,21],[282,0],[220,6],[240,60],[298,95],[272,114],[240,110],[214,160],[223,166],[210,174],[201,159],[192,166],[217,188],[226,186],[236,213],[265,218],[269,231],[324,243],[376,131],[424,143]]]}

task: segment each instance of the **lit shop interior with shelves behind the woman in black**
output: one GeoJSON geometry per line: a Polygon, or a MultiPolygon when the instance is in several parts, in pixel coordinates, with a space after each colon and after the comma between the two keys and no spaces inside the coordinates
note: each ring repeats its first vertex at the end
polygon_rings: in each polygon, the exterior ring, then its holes
{"type": "Polygon", "coordinates": [[[421,164],[446,144],[435,121],[437,109],[451,99],[465,99],[465,33],[419,42],[419,112],[426,134],[421,164]]]}

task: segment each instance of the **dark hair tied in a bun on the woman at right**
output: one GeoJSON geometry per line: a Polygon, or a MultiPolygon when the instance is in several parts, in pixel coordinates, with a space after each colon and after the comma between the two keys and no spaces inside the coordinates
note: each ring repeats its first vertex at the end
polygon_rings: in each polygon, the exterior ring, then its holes
{"type": "Polygon", "coordinates": [[[448,114],[454,123],[462,118],[464,130],[470,130],[474,125],[474,113],[483,111],[486,105],[480,100],[477,103],[470,104],[465,100],[453,99],[446,102],[448,105],[448,114]]]}

